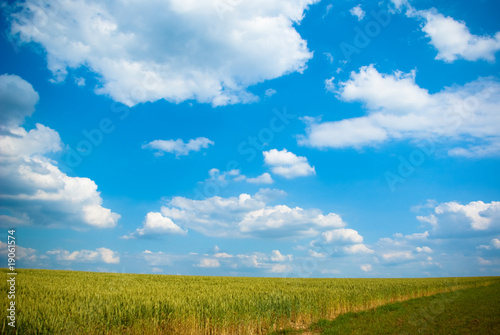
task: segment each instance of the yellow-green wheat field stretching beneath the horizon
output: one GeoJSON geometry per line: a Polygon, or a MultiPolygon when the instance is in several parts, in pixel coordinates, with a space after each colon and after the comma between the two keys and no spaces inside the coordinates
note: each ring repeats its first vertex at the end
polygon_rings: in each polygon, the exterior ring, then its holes
{"type": "MultiPolygon", "coordinates": [[[[1,290],[8,291],[6,270],[1,290]]],[[[280,279],[19,270],[19,334],[266,334],[499,277],[280,279]]],[[[2,295],[2,333],[7,326],[2,295]]]]}

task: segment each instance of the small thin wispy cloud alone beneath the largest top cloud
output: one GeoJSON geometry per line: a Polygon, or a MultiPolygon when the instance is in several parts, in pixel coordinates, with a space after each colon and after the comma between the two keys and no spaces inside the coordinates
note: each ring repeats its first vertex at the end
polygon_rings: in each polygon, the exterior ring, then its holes
{"type": "Polygon", "coordinates": [[[175,154],[176,157],[187,156],[192,151],[200,151],[207,149],[209,145],[214,145],[214,142],[205,137],[198,137],[184,142],[182,139],[177,140],[154,140],[142,146],[143,149],[157,150],[155,155],[163,156],[165,152],[175,154]]]}

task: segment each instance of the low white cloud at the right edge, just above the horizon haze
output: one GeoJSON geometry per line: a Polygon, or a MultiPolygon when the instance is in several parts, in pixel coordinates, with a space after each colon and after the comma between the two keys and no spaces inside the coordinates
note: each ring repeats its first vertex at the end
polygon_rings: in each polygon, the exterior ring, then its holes
{"type": "Polygon", "coordinates": [[[442,238],[494,234],[500,231],[500,202],[441,203],[433,208],[433,213],[420,217],[420,221],[430,222],[432,234],[442,238]]]}

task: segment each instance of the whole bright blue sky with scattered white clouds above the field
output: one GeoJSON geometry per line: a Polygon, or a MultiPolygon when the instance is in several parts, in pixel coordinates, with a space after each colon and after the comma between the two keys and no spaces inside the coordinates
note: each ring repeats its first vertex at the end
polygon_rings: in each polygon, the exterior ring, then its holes
{"type": "Polygon", "coordinates": [[[19,266],[499,274],[497,2],[123,2],[2,4],[19,266]]]}

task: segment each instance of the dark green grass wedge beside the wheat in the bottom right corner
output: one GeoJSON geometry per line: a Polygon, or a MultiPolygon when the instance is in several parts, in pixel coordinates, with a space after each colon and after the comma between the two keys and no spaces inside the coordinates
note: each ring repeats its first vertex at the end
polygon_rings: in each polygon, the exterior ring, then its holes
{"type": "MultiPolygon", "coordinates": [[[[314,334],[500,334],[500,283],[320,320],[314,334]]],[[[300,334],[285,330],[277,334],[300,334]]]]}

